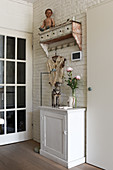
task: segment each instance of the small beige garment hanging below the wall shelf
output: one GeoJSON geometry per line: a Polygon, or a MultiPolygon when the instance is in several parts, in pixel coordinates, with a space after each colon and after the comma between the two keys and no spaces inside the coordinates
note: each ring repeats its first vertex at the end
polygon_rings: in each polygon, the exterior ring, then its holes
{"type": "Polygon", "coordinates": [[[53,87],[56,82],[62,83],[64,75],[64,64],[66,59],[62,56],[53,56],[47,61],[48,72],[51,72],[49,75],[49,84],[53,87]],[[53,71],[55,70],[55,71],[53,71]]]}

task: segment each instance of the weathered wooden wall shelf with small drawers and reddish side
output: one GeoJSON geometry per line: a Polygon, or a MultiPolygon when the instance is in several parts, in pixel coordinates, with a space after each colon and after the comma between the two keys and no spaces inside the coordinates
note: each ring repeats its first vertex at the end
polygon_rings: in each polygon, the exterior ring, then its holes
{"type": "MultiPolygon", "coordinates": [[[[48,56],[49,46],[51,44],[52,47],[55,46],[57,48],[56,43],[64,41],[67,45],[69,42],[76,41],[79,49],[82,50],[82,31],[81,31],[81,23],[76,21],[68,21],[61,25],[58,25],[54,28],[50,28],[45,30],[44,32],[39,33],[40,36],[40,45],[48,56]]],[[[61,43],[62,44],[62,43],[61,43]]],[[[59,44],[58,44],[59,45],[59,44]]]]}

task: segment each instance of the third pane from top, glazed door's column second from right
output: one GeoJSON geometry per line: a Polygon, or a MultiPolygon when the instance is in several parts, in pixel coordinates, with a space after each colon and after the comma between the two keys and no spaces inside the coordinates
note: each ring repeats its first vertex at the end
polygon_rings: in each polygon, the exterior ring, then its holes
{"type": "Polygon", "coordinates": [[[15,108],[15,87],[6,87],[6,108],[15,108]]]}

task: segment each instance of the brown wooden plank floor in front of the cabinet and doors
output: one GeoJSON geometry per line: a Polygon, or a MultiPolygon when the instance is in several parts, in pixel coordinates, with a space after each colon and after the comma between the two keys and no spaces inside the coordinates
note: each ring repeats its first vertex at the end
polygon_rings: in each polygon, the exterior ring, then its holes
{"type": "MultiPolygon", "coordinates": [[[[33,140],[0,146],[0,170],[67,170],[35,153],[36,146],[38,143],[33,140]]],[[[70,170],[100,170],[100,168],[82,164],[70,170]]]]}

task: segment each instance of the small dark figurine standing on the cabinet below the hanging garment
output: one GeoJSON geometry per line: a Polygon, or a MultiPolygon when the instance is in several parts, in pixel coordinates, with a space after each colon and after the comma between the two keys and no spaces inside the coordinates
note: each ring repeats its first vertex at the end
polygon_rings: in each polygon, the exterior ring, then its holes
{"type": "Polygon", "coordinates": [[[59,107],[60,106],[60,100],[61,100],[61,83],[56,82],[55,88],[52,90],[52,106],[53,107],[59,107]]]}

